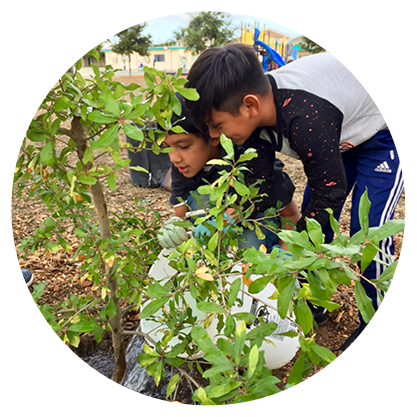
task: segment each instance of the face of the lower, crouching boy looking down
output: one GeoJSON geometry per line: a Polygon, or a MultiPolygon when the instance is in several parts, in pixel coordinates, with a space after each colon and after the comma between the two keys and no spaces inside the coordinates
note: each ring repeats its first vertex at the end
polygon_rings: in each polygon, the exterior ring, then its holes
{"type": "Polygon", "coordinates": [[[184,177],[197,175],[210,159],[217,158],[220,153],[219,138],[212,138],[207,143],[202,137],[192,133],[168,135],[164,145],[172,148],[169,159],[184,177]]]}

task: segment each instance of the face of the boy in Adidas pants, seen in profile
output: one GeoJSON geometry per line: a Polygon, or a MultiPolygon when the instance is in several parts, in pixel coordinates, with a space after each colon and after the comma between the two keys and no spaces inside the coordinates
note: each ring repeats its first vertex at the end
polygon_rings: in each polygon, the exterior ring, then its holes
{"type": "Polygon", "coordinates": [[[212,110],[212,119],[207,126],[211,137],[219,137],[222,133],[236,145],[242,145],[258,127],[256,119],[251,116],[245,106],[241,106],[238,116],[225,111],[212,110]]]}

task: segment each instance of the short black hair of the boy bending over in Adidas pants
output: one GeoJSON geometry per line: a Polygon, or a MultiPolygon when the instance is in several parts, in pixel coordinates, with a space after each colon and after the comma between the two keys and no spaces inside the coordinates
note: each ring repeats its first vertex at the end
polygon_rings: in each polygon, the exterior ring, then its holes
{"type": "Polygon", "coordinates": [[[254,49],[245,44],[228,44],[206,49],[188,73],[187,88],[196,88],[198,101],[186,100],[197,123],[209,123],[212,110],[239,114],[248,94],[264,96],[270,84],[254,49]]]}

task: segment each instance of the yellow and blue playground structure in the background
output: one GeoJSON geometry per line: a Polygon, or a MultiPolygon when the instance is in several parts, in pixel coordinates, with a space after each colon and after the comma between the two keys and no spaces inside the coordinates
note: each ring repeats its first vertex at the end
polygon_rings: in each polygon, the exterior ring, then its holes
{"type": "Polygon", "coordinates": [[[260,30],[255,24],[242,24],[241,42],[253,45],[265,72],[285,65],[285,57],[291,56],[288,36],[273,30],[260,30]]]}

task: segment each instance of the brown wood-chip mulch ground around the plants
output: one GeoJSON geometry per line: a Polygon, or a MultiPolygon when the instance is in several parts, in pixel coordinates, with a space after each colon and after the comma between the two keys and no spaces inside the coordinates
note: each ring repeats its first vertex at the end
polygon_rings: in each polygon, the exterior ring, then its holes
{"type": "MultiPolygon", "coordinates": [[[[120,79],[124,84],[136,82],[143,85],[143,77],[123,77],[120,79]]],[[[127,153],[123,155],[127,157],[127,153]]],[[[289,157],[280,155],[285,163],[285,170],[289,173],[296,187],[294,200],[300,207],[306,178],[302,169],[302,164],[289,157]]],[[[116,210],[134,210],[135,199],[139,197],[141,205],[150,211],[157,210],[163,219],[173,215],[173,208],[168,203],[170,193],[163,188],[137,188],[130,182],[129,169],[125,168],[119,172],[117,177],[117,189],[112,191],[106,189],[108,205],[116,210]]],[[[20,245],[23,238],[30,236],[33,231],[42,224],[48,216],[46,206],[35,199],[29,200],[27,193],[23,193],[21,198],[16,194],[11,196],[11,223],[13,228],[13,239],[16,248],[20,245]]],[[[340,224],[345,233],[349,231],[350,199],[345,204],[341,216],[340,224]]],[[[395,218],[404,219],[406,215],[405,195],[397,206],[395,218]]],[[[78,241],[72,231],[67,232],[66,240],[72,243],[75,249],[78,241]]],[[[396,252],[395,257],[399,257],[403,243],[403,234],[395,237],[396,252]]],[[[46,256],[39,253],[29,254],[27,259],[23,255],[18,255],[21,268],[29,269],[34,274],[34,284],[42,281],[46,282],[46,288],[41,302],[54,305],[69,297],[73,292],[77,294],[90,294],[92,292],[91,282],[82,282],[83,275],[80,270],[80,261],[73,259],[66,252],[61,251],[53,255],[46,256]]],[[[31,291],[31,289],[29,289],[31,291]]],[[[336,353],[338,348],[345,342],[349,335],[357,328],[358,310],[353,296],[353,290],[349,287],[340,286],[334,295],[334,301],[341,305],[341,308],[329,314],[328,322],[316,329],[315,341],[336,353]]],[[[128,327],[137,326],[137,316],[129,316],[128,327]]],[[[105,339],[99,349],[109,349],[110,341],[105,339]]],[[[93,338],[84,338],[80,347],[74,352],[79,356],[84,356],[95,351],[97,346],[93,338]]],[[[275,371],[276,376],[282,380],[285,385],[291,364],[275,371]]],[[[320,368],[313,369],[308,377],[318,372],[320,368]]]]}

